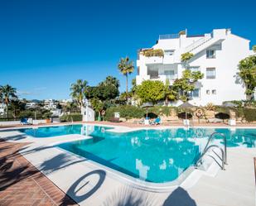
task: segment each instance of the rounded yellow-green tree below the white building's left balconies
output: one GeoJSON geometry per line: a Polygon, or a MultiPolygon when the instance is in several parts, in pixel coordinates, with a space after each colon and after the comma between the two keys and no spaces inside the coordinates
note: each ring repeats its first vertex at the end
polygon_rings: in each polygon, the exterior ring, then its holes
{"type": "Polygon", "coordinates": [[[156,104],[164,98],[165,85],[162,81],[146,80],[137,86],[136,94],[142,103],[151,102],[156,104]]]}

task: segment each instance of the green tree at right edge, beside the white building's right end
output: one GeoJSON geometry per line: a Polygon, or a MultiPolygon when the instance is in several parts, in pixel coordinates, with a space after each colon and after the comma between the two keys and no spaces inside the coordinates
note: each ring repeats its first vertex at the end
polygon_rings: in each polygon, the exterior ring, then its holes
{"type": "Polygon", "coordinates": [[[256,87],[256,55],[239,61],[239,77],[243,79],[247,100],[253,100],[256,87]]]}

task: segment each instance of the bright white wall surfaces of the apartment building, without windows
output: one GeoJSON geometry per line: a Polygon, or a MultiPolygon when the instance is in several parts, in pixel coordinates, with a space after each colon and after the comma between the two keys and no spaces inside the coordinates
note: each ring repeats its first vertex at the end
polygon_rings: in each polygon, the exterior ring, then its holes
{"type": "MultiPolygon", "coordinates": [[[[220,41],[207,49],[215,49],[215,59],[206,59],[206,49],[204,49],[196,53],[190,63],[190,66],[200,66],[200,71],[205,74],[204,79],[200,80],[200,98],[193,98],[190,101],[196,105],[205,105],[207,103],[221,104],[224,101],[245,99],[244,85],[241,81],[237,81],[236,74],[239,71],[239,60],[252,54],[252,51],[249,50],[249,40],[233,35],[225,29],[214,30],[213,34],[214,38],[220,38],[220,41]],[[215,79],[206,79],[206,68],[209,67],[215,67],[215,79]],[[206,94],[207,89],[210,90],[210,94],[206,94]],[[211,94],[213,89],[216,90],[216,94],[211,94]]],[[[155,49],[176,50],[172,58],[172,64],[171,59],[168,61],[163,60],[162,64],[157,64],[159,67],[159,80],[165,82],[164,70],[168,68],[176,68],[178,77],[181,77],[184,66],[180,60],[178,64],[176,63],[177,56],[180,58],[182,51],[185,49],[184,47],[189,46],[193,41],[197,41],[200,38],[181,36],[180,39],[160,40],[157,45],[153,46],[155,49]]],[[[143,55],[140,55],[140,60],[138,60],[140,74],[136,77],[137,84],[141,84],[143,80],[149,79],[147,66],[152,64],[147,64],[149,61],[145,60],[145,58],[143,55]]]]}

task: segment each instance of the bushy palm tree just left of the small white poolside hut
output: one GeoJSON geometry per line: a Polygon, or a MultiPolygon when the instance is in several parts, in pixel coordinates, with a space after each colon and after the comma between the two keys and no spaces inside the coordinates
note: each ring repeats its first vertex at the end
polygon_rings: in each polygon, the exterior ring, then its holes
{"type": "Polygon", "coordinates": [[[80,106],[80,109],[82,111],[82,107],[84,105],[84,98],[85,98],[85,93],[88,88],[88,82],[85,80],[83,81],[82,79],[78,79],[76,83],[71,84],[70,87],[70,96],[77,102],[80,106]]]}

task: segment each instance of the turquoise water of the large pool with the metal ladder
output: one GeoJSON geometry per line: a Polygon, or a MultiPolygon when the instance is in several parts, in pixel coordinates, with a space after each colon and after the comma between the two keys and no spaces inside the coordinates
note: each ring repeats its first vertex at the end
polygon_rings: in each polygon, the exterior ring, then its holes
{"type": "MultiPolygon", "coordinates": [[[[154,183],[176,180],[194,165],[213,132],[224,133],[227,146],[254,147],[256,143],[256,129],[171,128],[116,133],[109,132],[108,127],[84,127],[92,139],[58,146],[126,175],[154,183]]],[[[223,140],[217,136],[214,143],[221,145],[223,140]]]]}

